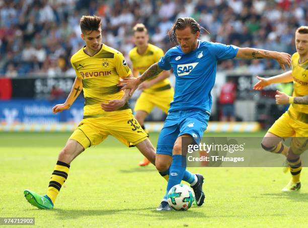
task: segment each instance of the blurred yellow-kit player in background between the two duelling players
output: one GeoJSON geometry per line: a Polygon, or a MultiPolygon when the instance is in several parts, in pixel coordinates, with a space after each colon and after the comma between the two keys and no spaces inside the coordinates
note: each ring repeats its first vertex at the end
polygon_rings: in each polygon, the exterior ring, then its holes
{"type": "MultiPolygon", "coordinates": [[[[148,43],[147,29],[143,24],[136,24],[133,28],[133,33],[136,46],[130,50],[129,58],[132,62],[133,75],[138,77],[149,66],[158,62],[164,56],[164,51],[148,43]]],[[[174,95],[174,90],[167,79],[169,75],[169,70],[163,71],[153,79],[143,82],[138,87],[139,90],[142,90],[142,93],[135,104],[135,117],[147,133],[148,131],[144,127],[144,119],[155,106],[168,114],[170,102],[173,100],[174,95]]],[[[139,166],[146,166],[148,164],[149,161],[144,158],[139,163],[139,166]]]]}

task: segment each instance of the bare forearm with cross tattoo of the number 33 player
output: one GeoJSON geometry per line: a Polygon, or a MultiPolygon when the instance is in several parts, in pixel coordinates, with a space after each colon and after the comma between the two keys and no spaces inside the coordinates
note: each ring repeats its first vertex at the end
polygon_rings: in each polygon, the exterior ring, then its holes
{"type": "Polygon", "coordinates": [[[71,88],[71,91],[66,99],[66,101],[63,104],[55,105],[52,108],[53,113],[61,112],[65,109],[69,109],[72,103],[76,100],[78,95],[83,89],[83,80],[82,78],[76,77],[75,82],[71,88]]]}

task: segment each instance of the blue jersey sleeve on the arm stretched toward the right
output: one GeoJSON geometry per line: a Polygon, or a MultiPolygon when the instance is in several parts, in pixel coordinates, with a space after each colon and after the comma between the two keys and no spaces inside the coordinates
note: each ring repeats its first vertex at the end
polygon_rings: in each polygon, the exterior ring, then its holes
{"type": "Polygon", "coordinates": [[[218,59],[234,58],[239,48],[234,45],[225,45],[221,43],[212,43],[210,52],[218,59]]]}

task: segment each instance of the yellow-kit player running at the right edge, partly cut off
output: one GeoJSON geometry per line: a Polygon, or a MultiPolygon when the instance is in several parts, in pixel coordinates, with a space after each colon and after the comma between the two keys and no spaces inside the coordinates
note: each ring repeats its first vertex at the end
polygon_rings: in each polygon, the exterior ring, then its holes
{"type": "Polygon", "coordinates": [[[282,191],[300,189],[300,155],[308,148],[308,26],[301,26],[295,32],[296,53],[292,55],[292,70],[272,78],[260,78],[255,90],[261,90],[273,83],[293,82],[293,95],[277,91],[277,104],[290,104],[289,109],[271,126],[262,140],[262,147],[272,153],[283,154],[291,172],[291,180],[282,191]],[[293,137],[290,147],[281,140],[293,137]]]}

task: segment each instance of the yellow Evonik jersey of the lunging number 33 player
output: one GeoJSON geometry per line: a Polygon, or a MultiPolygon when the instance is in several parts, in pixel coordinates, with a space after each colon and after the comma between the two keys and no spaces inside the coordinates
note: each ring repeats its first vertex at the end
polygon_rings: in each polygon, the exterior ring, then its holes
{"type": "Polygon", "coordinates": [[[72,55],[70,62],[77,77],[83,80],[85,96],[84,118],[96,118],[131,112],[128,103],[117,111],[105,112],[101,103],[121,99],[124,91],[117,87],[120,77],[125,78],[131,70],[119,51],[103,44],[94,56],[86,54],[83,47],[72,55]]]}

